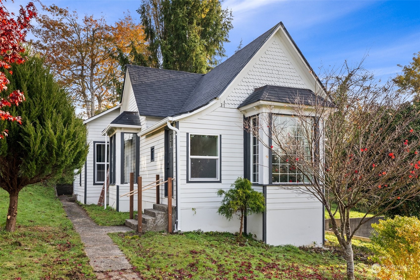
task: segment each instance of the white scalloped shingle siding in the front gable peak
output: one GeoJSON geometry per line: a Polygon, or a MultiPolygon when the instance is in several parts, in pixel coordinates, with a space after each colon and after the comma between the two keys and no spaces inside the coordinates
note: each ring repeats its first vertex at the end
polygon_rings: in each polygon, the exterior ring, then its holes
{"type": "Polygon", "coordinates": [[[310,88],[308,86],[310,83],[305,81],[303,73],[280,37],[275,35],[266,44],[265,50],[260,50],[258,53],[262,54],[250,61],[245,69],[246,73],[240,77],[226,98],[226,107],[238,107],[255,88],[260,86],[310,88]]]}

